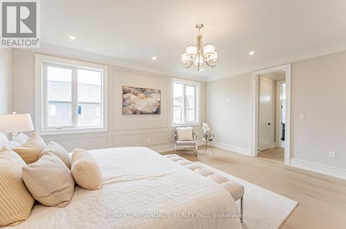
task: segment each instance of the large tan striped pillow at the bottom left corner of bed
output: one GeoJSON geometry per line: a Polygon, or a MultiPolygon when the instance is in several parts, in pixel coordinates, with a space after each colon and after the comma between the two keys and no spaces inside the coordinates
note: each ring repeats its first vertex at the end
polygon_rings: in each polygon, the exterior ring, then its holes
{"type": "Polygon", "coordinates": [[[0,150],[0,227],[28,219],[34,199],[26,189],[21,167],[26,163],[11,149],[0,150]]]}

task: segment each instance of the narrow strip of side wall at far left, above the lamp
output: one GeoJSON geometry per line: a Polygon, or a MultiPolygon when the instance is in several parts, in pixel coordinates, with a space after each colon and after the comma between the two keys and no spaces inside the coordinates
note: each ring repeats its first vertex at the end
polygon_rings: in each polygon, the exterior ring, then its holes
{"type": "Polygon", "coordinates": [[[11,50],[0,48],[0,114],[10,113],[11,50]]]}

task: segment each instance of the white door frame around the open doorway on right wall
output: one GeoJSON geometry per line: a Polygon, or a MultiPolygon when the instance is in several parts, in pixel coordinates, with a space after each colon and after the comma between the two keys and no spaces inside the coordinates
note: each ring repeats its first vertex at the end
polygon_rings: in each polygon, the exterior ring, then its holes
{"type": "Polygon", "coordinates": [[[285,125],[285,147],[284,147],[284,164],[290,165],[291,163],[291,64],[284,64],[280,66],[274,66],[271,68],[254,71],[251,74],[251,155],[257,156],[258,147],[258,111],[259,111],[259,95],[260,95],[260,77],[265,73],[271,73],[273,71],[285,71],[286,72],[286,125],[285,125]]]}

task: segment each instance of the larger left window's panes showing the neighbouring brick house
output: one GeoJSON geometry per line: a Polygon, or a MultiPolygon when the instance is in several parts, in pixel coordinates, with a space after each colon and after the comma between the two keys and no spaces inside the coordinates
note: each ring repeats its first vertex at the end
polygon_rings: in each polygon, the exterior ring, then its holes
{"type": "Polygon", "coordinates": [[[102,69],[44,64],[44,129],[103,127],[102,69]]]}

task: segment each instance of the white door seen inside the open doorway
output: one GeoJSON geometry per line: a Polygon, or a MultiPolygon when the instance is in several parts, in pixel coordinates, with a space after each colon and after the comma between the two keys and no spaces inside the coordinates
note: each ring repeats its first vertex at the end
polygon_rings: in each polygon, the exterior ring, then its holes
{"type": "Polygon", "coordinates": [[[273,100],[273,82],[260,77],[258,151],[271,147],[271,102],[273,100]]]}

